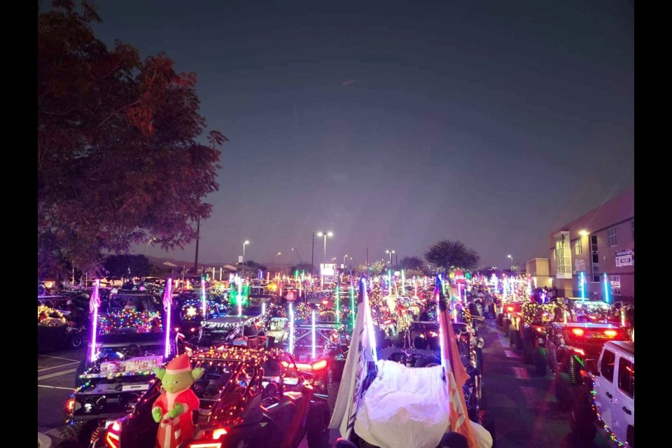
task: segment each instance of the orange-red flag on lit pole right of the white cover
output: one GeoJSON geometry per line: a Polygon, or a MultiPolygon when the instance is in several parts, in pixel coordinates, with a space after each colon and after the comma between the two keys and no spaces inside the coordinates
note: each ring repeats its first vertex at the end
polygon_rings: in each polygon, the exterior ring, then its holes
{"type": "Polygon", "coordinates": [[[439,299],[439,324],[441,328],[441,364],[446,375],[448,388],[450,430],[466,437],[469,448],[477,448],[476,437],[467,412],[467,402],[464,399],[462,386],[469,378],[467,370],[462,365],[457,339],[450,320],[450,312],[446,304],[446,297],[441,288],[441,279],[437,276],[435,297],[439,299]]]}

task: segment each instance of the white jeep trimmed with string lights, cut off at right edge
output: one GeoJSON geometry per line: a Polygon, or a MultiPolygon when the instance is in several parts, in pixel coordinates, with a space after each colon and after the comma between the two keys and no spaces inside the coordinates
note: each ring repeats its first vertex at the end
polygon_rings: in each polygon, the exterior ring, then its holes
{"type": "Polygon", "coordinates": [[[635,343],[604,344],[596,374],[575,396],[569,423],[578,440],[599,430],[615,446],[635,446],[635,343]],[[592,387],[591,387],[592,386],[592,387]]]}

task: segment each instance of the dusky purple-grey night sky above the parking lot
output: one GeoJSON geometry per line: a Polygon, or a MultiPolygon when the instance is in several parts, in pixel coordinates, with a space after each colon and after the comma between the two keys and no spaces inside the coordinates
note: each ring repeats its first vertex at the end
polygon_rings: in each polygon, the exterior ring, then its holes
{"type": "Polygon", "coordinates": [[[197,73],[230,139],[201,262],[235,261],[244,239],[246,260],[309,261],[311,232],[332,230],[339,262],[447,238],[508,267],[633,186],[631,2],[97,4],[106,43],[197,73]]]}

